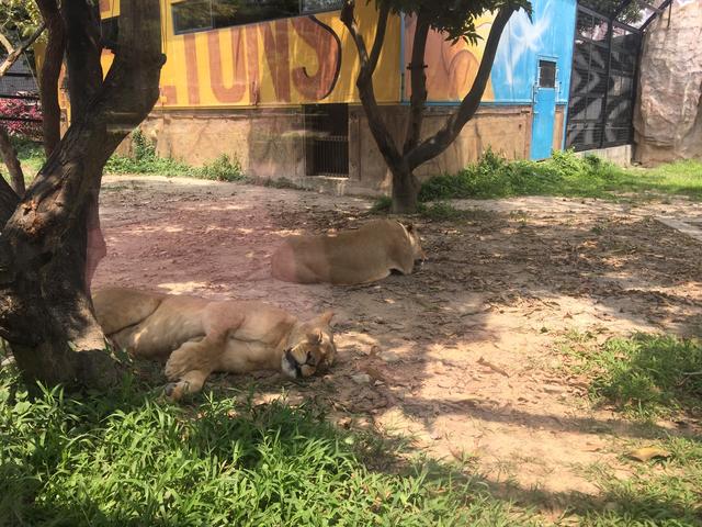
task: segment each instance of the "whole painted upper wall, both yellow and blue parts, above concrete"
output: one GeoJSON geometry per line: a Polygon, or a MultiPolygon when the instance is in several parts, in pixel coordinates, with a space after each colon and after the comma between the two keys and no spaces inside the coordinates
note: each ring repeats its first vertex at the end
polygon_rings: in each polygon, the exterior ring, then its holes
{"type": "MultiPolygon", "coordinates": [[[[176,0],[160,1],[168,60],[161,71],[161,98],[157,105],[359,102],[358,53],[339,20],[339,11],[176,35],[171,10],[176,0]]],[[[532,0],[532,5],[531,20],[519,11],[507,24],[484,102],[531,103],[540,58],[556,61],[556,103],[567,101],[576,0],[532,0]]],[[[118,0],[100,0],[100,8],[103,19],[120,12],[118,0]]],[[[356,9],[361,32],[370,45],[376,11],[372,2],[359,2],[356,9]]],[[[492,20],[491,13],[477,20],[482,40],[476,45],[464,41],[452,44],[444,35],[430,32],[426,52],[430,103],[457,102],[467,93],[477,75],[492,20]]],[[[415,25],[412,16],[390,16],[374,76],[381,103],[409,100],[409,72],[403,69],[410,61],[415,25]]],[[[106,70],[111,56],[105,55],[103,63],[106,70]]]]}

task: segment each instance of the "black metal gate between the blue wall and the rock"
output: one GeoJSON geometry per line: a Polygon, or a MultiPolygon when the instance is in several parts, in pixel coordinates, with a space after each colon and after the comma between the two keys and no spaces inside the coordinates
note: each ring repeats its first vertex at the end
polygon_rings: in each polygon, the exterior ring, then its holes
{"type": "Polygon", "coordinates": [[[630,144],[642,32],[578,5],[566,147],[630,144]]]}

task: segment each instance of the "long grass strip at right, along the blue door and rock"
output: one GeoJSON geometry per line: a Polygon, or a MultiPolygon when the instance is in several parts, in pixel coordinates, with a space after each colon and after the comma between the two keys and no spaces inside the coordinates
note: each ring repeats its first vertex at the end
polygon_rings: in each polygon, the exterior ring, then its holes
{"type": "Polygon", "coordinates": [[[543,161],[508,161],[488,149],[479,162],[455,175],[426,181],[420,201],[563,195],[621,199],[623,193],[683,194],[702,199],[702,162],[681,161],[656,169],[622,169],[597,156],[555,152],[543,161]]]}

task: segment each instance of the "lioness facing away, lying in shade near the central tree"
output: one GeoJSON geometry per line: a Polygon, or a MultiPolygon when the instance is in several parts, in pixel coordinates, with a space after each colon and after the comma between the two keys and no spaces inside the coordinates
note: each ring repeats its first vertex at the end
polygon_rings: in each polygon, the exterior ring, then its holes
{"type": "Polygon", "coordinates": [[[355,231],[335,235],[292,236],[271,259],[272,274],[286,282],[367,283],[396,270],[410,274],[424,260],[412,225],[374,220],[355,231]]]}

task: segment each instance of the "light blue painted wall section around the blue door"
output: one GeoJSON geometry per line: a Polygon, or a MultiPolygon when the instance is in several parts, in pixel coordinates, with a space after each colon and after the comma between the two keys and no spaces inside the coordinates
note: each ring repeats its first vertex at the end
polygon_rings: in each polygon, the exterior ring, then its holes
{"type": "Polygon", "coordinates": [[[532,0],[533,14],[514,13],[502,33],[492,65],[497,103],[531,103],[539,59],[557,63],[556,103],[568,102],[576,0],[532,0]]]}

